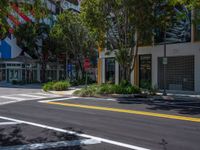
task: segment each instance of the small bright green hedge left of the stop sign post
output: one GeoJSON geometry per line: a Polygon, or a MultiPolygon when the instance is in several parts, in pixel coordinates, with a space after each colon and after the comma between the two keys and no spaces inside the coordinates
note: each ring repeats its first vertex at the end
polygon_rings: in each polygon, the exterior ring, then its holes
{"type": "Polygon", "coordinates": [[[64,91],[68,90],[70,83],[68,81],[48,82],[43,85],[44,91],[64,91]]]}

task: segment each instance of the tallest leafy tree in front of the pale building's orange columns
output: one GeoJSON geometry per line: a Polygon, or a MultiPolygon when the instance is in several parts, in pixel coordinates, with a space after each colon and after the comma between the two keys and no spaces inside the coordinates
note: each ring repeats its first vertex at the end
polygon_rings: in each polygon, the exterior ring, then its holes
{"type": "Polygon", "coordinates": [[[151,0],[84,0],[82,2],[81,14],[84,22],[91,31],[97,33],[99,45],[115,53],[124,80],[130,81],[138,46],[146,40],[143,40],[143,37],[150,35],[151,41],[153,6],[154,2],[151,0]]]}

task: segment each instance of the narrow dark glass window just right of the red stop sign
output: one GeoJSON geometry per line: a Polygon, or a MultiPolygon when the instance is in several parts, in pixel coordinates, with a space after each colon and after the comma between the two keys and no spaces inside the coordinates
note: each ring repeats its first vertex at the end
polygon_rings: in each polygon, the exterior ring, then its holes
{"type": "Polygon", "coordinates": [[[105,79],[106,82],[115,83],[115,59],[105,59],[105,79]]]}

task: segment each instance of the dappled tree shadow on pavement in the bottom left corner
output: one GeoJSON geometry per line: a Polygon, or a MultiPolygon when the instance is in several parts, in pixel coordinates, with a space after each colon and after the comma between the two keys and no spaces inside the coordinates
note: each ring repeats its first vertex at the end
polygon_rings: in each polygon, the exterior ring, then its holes
{"type": "MultiPolygon", "coordinates": [[[[30,134],[27,135],[27,130],[20,125],[8,126],[5,128],[0,128],[0,149],[10,146],[18,145],[28,145],[28,144],[39,144],[39,143],[51,143],[59,141],[74,141],[81,140],[76,135],[66,134],[61,132],[56,132],[48,129],[40,130],[40,134],[35,136],[35,131],[29,131],[30,134]]],[[[37,149],[35,149],[37,150],[37,149]]],[[[73,146],[73,147],[59,147],[59,148],[46,148],[43,150],[84,150],[83,146],[73,146]]]]}

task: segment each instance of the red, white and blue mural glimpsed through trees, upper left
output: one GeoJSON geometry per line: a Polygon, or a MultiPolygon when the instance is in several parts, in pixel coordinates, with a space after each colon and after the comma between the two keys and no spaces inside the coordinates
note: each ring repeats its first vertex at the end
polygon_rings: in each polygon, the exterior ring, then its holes
{"type": "MultiPolygon", "coordinates": [[[[55,12],[55,4],[51,1],[46,2],[48,9],[50,9],[52,12],[55,12]]],[[[80,10],[80,0],[62,0],[62,4],[63,6],[67,7],[67,9],[75,9],[77,11],[80,10]]],[[[10,8],[10,13],[8,14],[7,18],[7,23],[10,27],[9,35],[11,35],[14,32],[16,26],[19,26],[26,22],[34,22],[34,13],[32,11],[23,12],[23,9],[19,8],[16,4],[11,4],[10,8]]],[[[45,23],[52,25],[54,20],[56,20],[55,15],[48,19],[45,19],[45,23]]],[[[17,57],[21,52],[21,49],[16,44],[16,39],[14,37],[9,37],[9,35],[3,41],[0,41],[0,58],[14,58],[17,57]]]]}

